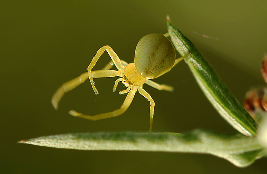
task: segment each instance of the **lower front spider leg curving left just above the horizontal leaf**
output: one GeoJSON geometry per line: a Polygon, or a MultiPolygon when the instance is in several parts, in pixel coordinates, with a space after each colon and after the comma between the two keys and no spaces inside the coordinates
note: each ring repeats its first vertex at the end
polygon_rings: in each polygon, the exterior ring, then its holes
{"type": "Polygon", "coordinates": [[[131,103],[134,99],[134,95],[135,95],[136,91],[137,91],[137,87],[131,87],[131,90],[128,92],[122,106],[120,106],[120,108],[116,109],[115,111],[91,116],[91,115],[85,115],[85,114],[78,113],[74,110],[71,110],[71,111],[69,111],[69,114],[71,114],[73,116],[81,117],[84,119],[89,119],[89,120],[100,120],[100,119],[106,119],[106,118],[119,116],[119,115],[123,114],[129,108],[129,106],[131,105],[131,103]]]}

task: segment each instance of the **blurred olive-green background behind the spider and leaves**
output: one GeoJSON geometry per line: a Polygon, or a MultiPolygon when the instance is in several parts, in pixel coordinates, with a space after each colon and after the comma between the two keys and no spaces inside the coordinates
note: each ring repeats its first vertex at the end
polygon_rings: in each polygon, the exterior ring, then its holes
{"type": "MultiPolygon", "coordinates": [[[[108,44],[128,63],[149,33],[166,33],[166,15],[212,64],[240,102],[260,74],[267,52],[267,1],[0,1],[0,173],[266,173],[266,159],[242,169],[204,154],[136,151],[78,151],[18,144],[22,139],[63,133],[144,132],[149,102],[136,94],[121,116],[96,122],[68,114],[98,114],[119,108],[125,96],[116,78],[95,79],[67,93],[55,111],[57,88],[87,70],[108,44]],[[206,38],[202,35],[213,38],[206,38]]],[[[180,55],[177,53],[177,58],[180,55]]],[[[109,62],[105,53],[94,69],[109,62]]],[[[174,92],[144,85],[155,100],[153,131],[196,128],[236,133],[211,106],[184,62],[154,80],[174,92]]]]}

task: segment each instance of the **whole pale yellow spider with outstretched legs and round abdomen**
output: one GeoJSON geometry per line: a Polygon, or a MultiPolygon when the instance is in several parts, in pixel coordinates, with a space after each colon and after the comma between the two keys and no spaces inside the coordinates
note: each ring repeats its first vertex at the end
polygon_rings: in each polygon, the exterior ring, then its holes
{"type": "Polygon", "coordinates": [[[128,109],[132,103],[136,91],[138,90],[138,92],[150,102],[149,131],[151,132],[155,102],[149,93],[143,89],[143,84],[146,83],[158,90],[173,91],[173,87],[155,83],[150,79],[155,79],[165,74],[186,56],[187,55],[175,60],[175,50],[172,43],[169,41],[169,39],[161,34],[148,34],[140,39],[136,46],[134,63],[128,64],[125,61],[120,60],[112,48],[106,45],[97,51],[87,68],[88,72],[85,72],[79,77],[64,83],[60,88],[58,88],[52,98],[52,104],[54,108],[57,109],[58,103],[63,95],[85,82],[85,80],[88,78],[91,82],[94,92],[98,94],[93,78],[120,76],[121,78],[115,81],[113,92],[115,92],[118,83],[122,82],[127,89],[120,91],[119,94],[128,94],[119,109],[94,116],[81,114],[74,110],[69,111],[69,114],[90,120],[99,120],[119,116],[128,109]],[[91,71],[105,50],[108,52],[112,61],[110,61],[110,63],[107,64],[107,66],[105,66],[102,70],[91,71]],[[110,68],[113,66],[113,63],[118,70],[110,70],[110,68]]]}

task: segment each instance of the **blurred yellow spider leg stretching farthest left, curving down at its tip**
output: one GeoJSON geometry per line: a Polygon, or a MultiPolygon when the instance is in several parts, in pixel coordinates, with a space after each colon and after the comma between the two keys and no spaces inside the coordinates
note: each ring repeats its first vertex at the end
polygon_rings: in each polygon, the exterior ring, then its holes
{"type": "MultiPolygon", "coordinates": [[[[101,77],[115,77],[115,76],[122,76],[123,70],[98,70],[98,71],[92,71],[91,76],[92,78],[101,78],[101,77]]],[[[70,80],[69,82],[63,83],[61,87],[58,88],[58,90],[55,92],[55,94],[52,97],[52,104],[55,109],[58,108],[58,103],[60,102],[61,98],[66,92],[69,92],[85,82],[85,80],[88,79],[88,73],[82,73],[79,77],[76,77],[75,79],[70,80]]]]}

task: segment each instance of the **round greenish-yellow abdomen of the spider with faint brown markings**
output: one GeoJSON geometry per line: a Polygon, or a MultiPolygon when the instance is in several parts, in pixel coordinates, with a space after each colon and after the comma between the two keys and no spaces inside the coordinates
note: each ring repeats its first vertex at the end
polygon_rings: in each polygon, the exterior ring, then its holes
{"type": "Polygon", "coordinates": [[[146,79],[154,79],[174,65],[175,50],[165,36],[157,33],[148,34],[139,40],[134,63],[137,71],[146,79]]]}

